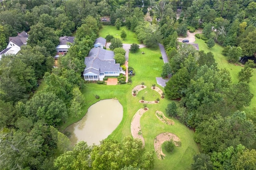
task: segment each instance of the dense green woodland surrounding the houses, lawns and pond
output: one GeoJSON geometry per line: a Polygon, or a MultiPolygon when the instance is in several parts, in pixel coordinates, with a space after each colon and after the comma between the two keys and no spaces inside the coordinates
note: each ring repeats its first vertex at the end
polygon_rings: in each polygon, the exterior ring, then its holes
{"type": "Polygon", "coordinates": [[[0,15],[0,51],[17,32],[29,34],[16,55],[0,59],[3,169],[154,168],[154,152],[130,136],[122,142],[80,142],[72,147],[59,132],[63,123],[81,114],[86,102],[81,93],[84,57],[102,25],[126,26],[148,48],[164,45],[169,63],[162,77],[172,74],[164,88],[170,99],[166,113],[194,129],[200,144],[192,169],[256,169],[256,107],[250,119],[239,111],[255,95],[249,85],[255,81],[255,64],[246,62],[232,82],[232,70],[218,68],[213,53],[188,44],[181,47],[177,41],[188,30],[202,29],[201,39],[224,46],[229,62],[255,57],[254,0],[1,0],[0,15]],[[101,19],[105,16],[110,20],[101,19]],[[76,38],[54,67],[61,36],[76,38]],[[41,79],[46,87],[36,92],[41,79]],[[176,99],[178,104],[172,102],[176,99]]]}

